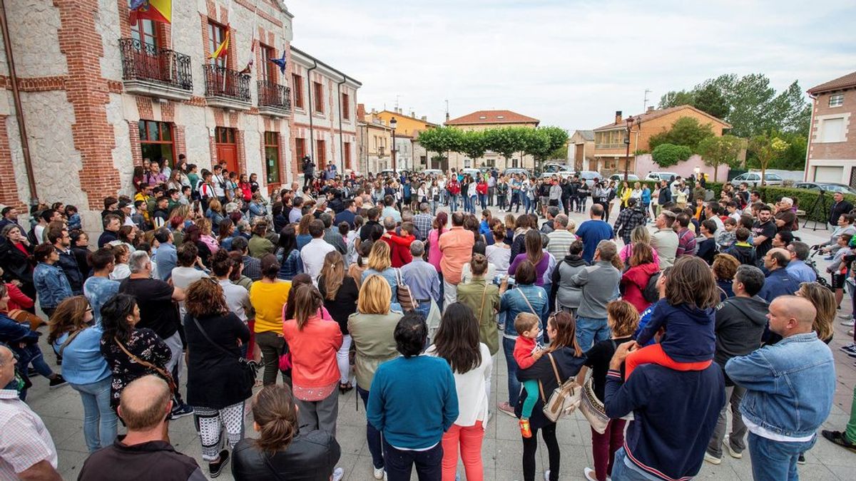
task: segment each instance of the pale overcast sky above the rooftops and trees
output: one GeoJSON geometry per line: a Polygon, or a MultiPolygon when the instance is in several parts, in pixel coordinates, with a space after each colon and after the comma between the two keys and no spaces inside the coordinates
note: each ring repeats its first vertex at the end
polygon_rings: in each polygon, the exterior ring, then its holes
{"type": "Polygon", "coordinates": [[[442,123],[508,109],[572,132],[719,74],[776,90],[856,70],[856,2],[287,0],[293,44],[360,80],[366,109],[442,123]]]}

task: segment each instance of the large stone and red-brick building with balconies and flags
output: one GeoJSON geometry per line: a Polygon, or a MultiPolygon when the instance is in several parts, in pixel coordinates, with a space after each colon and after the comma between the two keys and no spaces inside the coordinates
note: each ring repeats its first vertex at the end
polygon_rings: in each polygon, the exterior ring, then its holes
{"type": "Polygon", "coordinates": [[[355,157],[360,82],[291,47],[279,0],[174,1],[170,24],[132,24],[128,0],[19,0],[3,13],[4,205],[73,204],[97,232],[102,199],[133,193],[143,158],[225,160],[270,191],[299,176],[302,155],[355,157]],[[212,60],[227,26],[228,54],[212,60]],[[283,56],[284,73],[269,61],[283,56]]]}

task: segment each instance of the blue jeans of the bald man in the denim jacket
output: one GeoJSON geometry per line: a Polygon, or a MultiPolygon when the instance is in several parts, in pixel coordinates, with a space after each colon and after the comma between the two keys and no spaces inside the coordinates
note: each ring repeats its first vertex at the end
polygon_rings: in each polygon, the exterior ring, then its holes
{"type": "Polygon", "coordinates": [[[750,431],[749,456],[752,458],[752,478],[755,481],[800,479],[797,473],[797,458],[811,449],[815,441],[817,436],[805,442],[772,441],[750,431]]]}

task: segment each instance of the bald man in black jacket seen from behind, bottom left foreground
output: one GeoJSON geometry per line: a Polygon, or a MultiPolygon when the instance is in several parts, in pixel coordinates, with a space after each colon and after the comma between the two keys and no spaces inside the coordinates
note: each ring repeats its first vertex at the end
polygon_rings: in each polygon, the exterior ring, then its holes
{"type": "MultiPolygon", "coordinates": [[[[169,386],[160,377],[143,376],[129,383],[122,390],[118,408],[128,434],[118,436],[112,446],[92,453],[83,463],[78,480],[207,479],[193,458],[175,451],[169,444],[166,423],[171,409],[169,386]]],[[[229,451],[225,452],[228,457],[229,451]]],[[[225,460],[221,452],[221,466],[225,460]]]]}

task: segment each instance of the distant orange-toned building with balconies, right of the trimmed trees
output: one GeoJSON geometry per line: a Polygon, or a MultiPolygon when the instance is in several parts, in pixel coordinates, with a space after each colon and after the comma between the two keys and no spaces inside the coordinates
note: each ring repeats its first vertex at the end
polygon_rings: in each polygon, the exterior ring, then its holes
{"type": "Polygon", "coordinates": [[[704,125],[710,123],[714,135],[722,135],[722,130],[731,128],[728,122],[698,110],[692,105],[678,105],[669,109],[655,110],[649,107],[644,114],[632,116],[633,123],[630,132],[630,158],[627,159],[627,119],[621,117],[621,110],[615,112],[615,122],[594,129],[594,163],[589,170],[597,170],[603,174],[624,171],[625,161],[629,160],[628,169],[640,177],[647,172],[636,172],[636,161],[633,152],[651,151],[648,140],[651,135],[660,134],[672,128],[681,117],[692,117],[704,125]]]}

